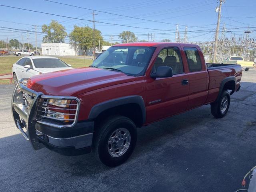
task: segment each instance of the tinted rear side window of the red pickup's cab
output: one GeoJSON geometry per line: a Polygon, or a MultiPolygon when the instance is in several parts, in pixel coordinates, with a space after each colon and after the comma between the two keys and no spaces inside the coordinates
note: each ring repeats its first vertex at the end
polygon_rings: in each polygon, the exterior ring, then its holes
{"type": "Polygon", "coordinates": [[[196,72],[202,70],[202,62],[197,48],[195,47],[184,47],[186,59],[188,62],[188,70],[190,72],[196,72]]]}

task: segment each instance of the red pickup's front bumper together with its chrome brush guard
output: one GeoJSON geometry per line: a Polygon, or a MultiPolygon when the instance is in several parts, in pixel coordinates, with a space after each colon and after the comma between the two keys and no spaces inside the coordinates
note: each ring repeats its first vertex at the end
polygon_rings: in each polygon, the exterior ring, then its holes
{"type": "MultiPolygon", "coordinates": [[[[90,152],[94,122],[77,122],[80,101],[75,97],[45,96],[41,92],[36,92],[27,88],[19,82],[12,96],[12,116],[16,127],[28,140],[34,150],[47,147],[50,150],[64,155],[78,155],[90,152]],[[26,104],[24,94],[33,97],[30,106],[26,104]],[[40,99],[72,99],[77,102],[75,118],[70,124],[52,123],[38,119],[36,112],[40,109],[40,99]]],[[[42,108],[42,107],[41,107],[42,108]]],[[[46,107],[47,108],[47,107],[46,107]]]]}

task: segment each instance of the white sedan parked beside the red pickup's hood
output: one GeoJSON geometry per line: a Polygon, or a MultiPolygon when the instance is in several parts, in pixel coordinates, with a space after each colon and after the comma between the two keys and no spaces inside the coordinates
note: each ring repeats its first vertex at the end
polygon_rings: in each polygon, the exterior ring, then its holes
{"type": "Polygon", "coordinates": [[[28,56],[22,57],[12,65],[12,76],[14,84],[17,84],[22,78],[71,68],[71,65],[56,57],[28,56]]]}

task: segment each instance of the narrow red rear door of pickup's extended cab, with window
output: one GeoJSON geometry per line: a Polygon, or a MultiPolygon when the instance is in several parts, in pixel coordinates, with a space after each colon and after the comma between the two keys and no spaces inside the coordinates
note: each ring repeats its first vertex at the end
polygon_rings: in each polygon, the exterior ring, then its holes
{"type": "Polygon", "coordinates": [[[189,93],[188,107],[192,109],[205,103],[208,96],[208,72],[196,47],[184,47],[188,64],[189,93]]]}

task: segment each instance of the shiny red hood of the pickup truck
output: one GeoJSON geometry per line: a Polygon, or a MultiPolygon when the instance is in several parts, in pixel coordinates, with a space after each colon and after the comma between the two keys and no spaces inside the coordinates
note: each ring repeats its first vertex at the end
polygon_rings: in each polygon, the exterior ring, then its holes
{"type": "Polygon", "coordinates": [[[122,72],[98,68],[74,68],[49,72],[31,77],[28,88],[36,92],[56,96],[77,96],[79,94],[134,81],[136,77],[122,72]]]}

